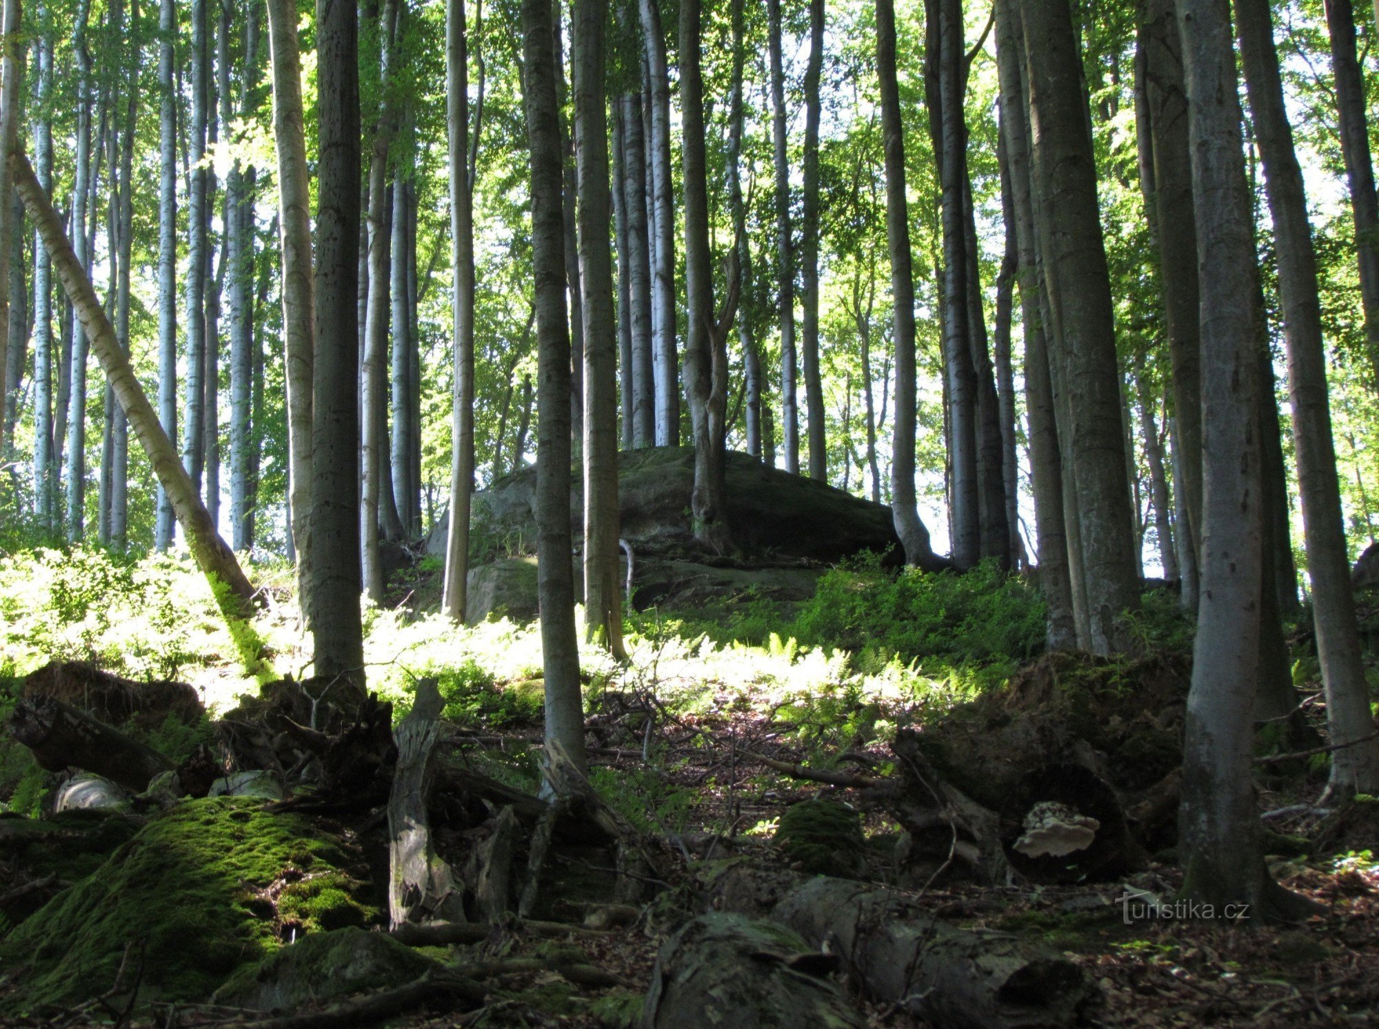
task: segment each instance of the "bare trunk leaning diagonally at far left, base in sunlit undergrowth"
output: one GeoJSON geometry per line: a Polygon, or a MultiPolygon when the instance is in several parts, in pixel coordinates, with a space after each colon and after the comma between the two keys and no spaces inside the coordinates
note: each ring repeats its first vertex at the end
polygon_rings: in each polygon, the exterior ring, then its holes
{"type": "Polygon", "coordinates": [[[250,585],[239,561],[234,560],[234,552],[217,534],[196,486],[178,461],[177,448],[163,432],[163,426],[159,425],[153,407],[130,366],[130,359],[121,349],[95,290],[91,288],[91,280],[87,279],[85,270],[72,251],[72,244],[68,243],[66,234],[62,232],[62,222],[58,221],[58,215],[39,185],[33,168],[29,167],[28,159],[22,153],[14,152],[10,168],[14,175],[14,186],[23,197],[29,218],[47,247],[48,257],[62,281],[62,288],[73,301],[77,317],[81,319],[81,328],[91,341],[97,360],[101,361],[101,367],[110,379],[114,396],[130,419],[130,426],[138,434],[149,463],[153,465],[153,473],[172,501],[192,556],[211,581],[217,601],[226,619],[232,622],[232,628],[239,628],[240,622],[252,612],[254,586],[250,585]]]}

